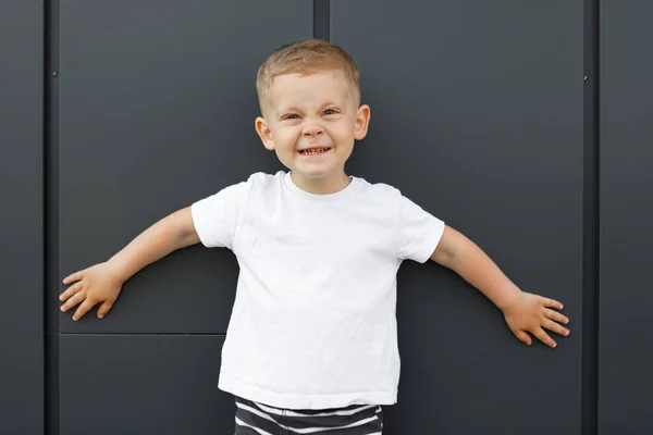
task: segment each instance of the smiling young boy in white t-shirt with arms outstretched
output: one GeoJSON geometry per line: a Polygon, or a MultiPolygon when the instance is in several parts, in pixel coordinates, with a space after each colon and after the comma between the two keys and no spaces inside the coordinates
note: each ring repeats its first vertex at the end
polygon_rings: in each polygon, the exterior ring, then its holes
{"type": "Polygon", "coordinates": [[[504,313],[521,341],[568,335],[552,299],[521,291],[464,235],[384,184],[345,173],[370,108],[358,66],[321,40],[284,46],[257,77],[256,130],[289,171],[180,210],[107,262],[67,276],[62,311],[103,318],[123,283],[201,243],[232,249],[239,276],[219,387],[236,397],[236,434],[380,434],[396,401],[396,273],[404,260],[452,269],[504,313]]]}

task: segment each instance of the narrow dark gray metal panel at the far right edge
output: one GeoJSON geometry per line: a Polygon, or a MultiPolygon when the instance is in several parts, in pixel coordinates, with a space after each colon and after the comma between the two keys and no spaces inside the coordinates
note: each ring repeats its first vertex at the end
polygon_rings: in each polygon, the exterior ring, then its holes
{"type": "Polygon", "coordinates": [[[653,3],[601,10],[599,433],[651,434],[653,3]]]}

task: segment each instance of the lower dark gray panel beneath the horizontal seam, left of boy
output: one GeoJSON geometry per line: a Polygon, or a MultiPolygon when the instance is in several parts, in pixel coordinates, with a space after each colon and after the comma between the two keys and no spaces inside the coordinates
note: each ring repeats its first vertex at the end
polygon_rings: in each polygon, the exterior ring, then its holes
{"type": "Polygon", "coordinates": [[[217,388],[223,341],[61,335],[60,433],[233,434],[234,399],[217,388]]]}

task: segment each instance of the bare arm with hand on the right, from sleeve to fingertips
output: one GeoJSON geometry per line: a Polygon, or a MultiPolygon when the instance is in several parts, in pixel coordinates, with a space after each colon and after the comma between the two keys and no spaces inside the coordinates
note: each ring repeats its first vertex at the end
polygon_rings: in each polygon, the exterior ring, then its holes
{"type": "Polygon", "coordinates": [[[556,343],[544,328],[569,335],[569,330],[563,326],[569,323],[569,319],[554,310],[563,309],[560,302],[519,289],[481,248],[456,229],[445,227],[431,260],[453,270],[482,291],[503,311],[515,336],[527,345],[532,343],[528,335],[531,333],[544,344],[555,347],[556,343]]]}

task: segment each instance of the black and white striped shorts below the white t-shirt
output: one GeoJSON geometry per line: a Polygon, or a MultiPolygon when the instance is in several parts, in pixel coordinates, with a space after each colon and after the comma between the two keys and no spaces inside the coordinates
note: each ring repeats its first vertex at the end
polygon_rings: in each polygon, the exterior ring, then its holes
{"type": "Polygon", "coordinates": [[[236,396],[235,435],[381,435],[382,430],[383,411],[378,405],[289,410],[236,396]]]}

